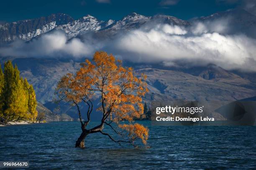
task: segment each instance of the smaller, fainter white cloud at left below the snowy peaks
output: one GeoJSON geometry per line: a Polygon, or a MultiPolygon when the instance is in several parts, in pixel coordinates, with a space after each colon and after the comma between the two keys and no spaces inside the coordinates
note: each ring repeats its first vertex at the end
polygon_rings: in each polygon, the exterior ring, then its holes
{"type": "Polygon", "coordinates": [[[0,55],[14,57],[84,57],[94,51],[94,48],[74,38],[70,41],[62,31],[44,34],[31,42],[16,41],[10,47],[2,47],[0,55]]]}

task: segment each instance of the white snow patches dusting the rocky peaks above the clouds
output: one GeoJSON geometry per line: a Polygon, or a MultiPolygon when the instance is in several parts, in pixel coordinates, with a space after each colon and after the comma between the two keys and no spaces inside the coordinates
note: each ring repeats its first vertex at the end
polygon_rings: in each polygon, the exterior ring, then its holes
{"type": "MultiPolygon", "coordinates": [[[[132,30],[140,28],[141,25],[155,19],[155,17],[148,17],[140,15],[138,13],[131,13],[119,21],[111,19],[108,21],[101,21],[93,17],[92,15],[86,15],[77,20],[73,20],[73,18],[69,17],[69,15],[62,13],[51,14],[48,16],[48,18],[50,20],[49,23],[46,23],[40,28],[31,30],[29,32],[23,32],[17,35],[17,37],[22,40],[31,40],[31,38],[49,32],[53,29],[64,30],[67,33],[68,38],[76,37],[77,35],[82,35],[87,32],[94,32],[98,30],[108,30],[113,33],[118,30],[132,30]]],[[[188,23],[187,21],[179,20],[178,18],[167,15],[159,15],[156,20],[157,22],[163,22],[168,24],[188,23]]],[[[18,22],[22,22],[22,24],[31,24],[31,22],[28,21],[31,20],[23,20],[18,22]]],[[[6,30],[8,30],[8,28],[10,28],[10,24],[11,23],[1,24],[0,31],[5,32],[6,30]]],[[[15,25],[17,23],[14,22],[12,24],[15,25]]],[[[6,37],[4,38],[6,39],[6,37]]]]}

